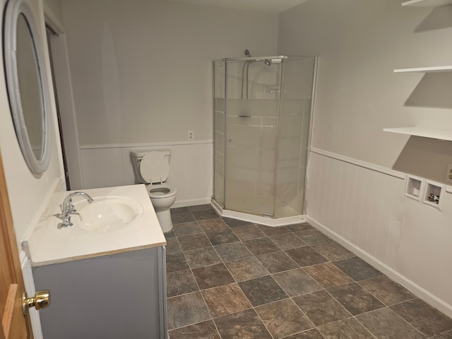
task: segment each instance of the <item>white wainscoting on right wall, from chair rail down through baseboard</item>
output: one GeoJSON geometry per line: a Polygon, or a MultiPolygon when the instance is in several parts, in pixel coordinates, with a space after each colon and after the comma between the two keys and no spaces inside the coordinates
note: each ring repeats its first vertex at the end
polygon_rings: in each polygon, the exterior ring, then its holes
{"type": "Polygon", "coordinates": [[[314,227],[452,316],[452,194],[438,210],[404,196],[405,174],[323,150],[308,173],[314,227]]]}

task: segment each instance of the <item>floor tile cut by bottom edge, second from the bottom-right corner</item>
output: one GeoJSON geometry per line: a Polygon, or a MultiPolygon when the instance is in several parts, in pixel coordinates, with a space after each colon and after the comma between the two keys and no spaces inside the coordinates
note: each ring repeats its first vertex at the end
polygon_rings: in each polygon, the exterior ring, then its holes
{"type": "Polygon", "coordinates": [[[426,338],[426,335],[417,331],[416,328],[412,327],[388,307],[360,314],[359,316],[356,316],[356,319],[374,334],[376,338],[426,338]]]}

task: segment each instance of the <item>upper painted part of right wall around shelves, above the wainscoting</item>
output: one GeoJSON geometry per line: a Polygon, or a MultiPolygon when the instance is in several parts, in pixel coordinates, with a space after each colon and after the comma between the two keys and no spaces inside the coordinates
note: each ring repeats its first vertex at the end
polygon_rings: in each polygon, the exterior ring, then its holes
{"type": "Polygon", "coordinates": [[[401,2],[309,0],[281,14],[278,53],[319,56],[314,147],[386,167],[413,148],[429,148],[436,153],[433,163],[417,152],[415,164],[399,163],[396,169],[443,181],[452,143],[439,148],[424,139],[422,147],[411,145],[408,136],[383,128],[451,129],[452,100],[446,93],[452,73],[423,76],[393,69],[452,64],[452,6],[402,7],[401,2]]]}

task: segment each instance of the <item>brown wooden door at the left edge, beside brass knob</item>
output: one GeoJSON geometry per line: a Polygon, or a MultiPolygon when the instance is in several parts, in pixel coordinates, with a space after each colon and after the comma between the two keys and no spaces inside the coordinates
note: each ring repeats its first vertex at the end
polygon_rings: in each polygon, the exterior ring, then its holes
{"type": "Polygon", "coordinates": [[[25,291],[0,153],[0,339],[33,338],[30,317],[23,316],[25,291]]]}

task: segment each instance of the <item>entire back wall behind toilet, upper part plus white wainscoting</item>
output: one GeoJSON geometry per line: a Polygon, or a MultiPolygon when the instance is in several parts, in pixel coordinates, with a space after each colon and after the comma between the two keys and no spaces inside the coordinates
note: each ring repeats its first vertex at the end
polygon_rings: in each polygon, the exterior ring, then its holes
{"type": "Polygon", "coordinates": [[[131,184],[124,152],[167,146],[177,204],[208,201],[212,61],[240,57],[244,49],[275,54],[278,15],[164,1],[62,3],[83,187],[131,184]]]}

